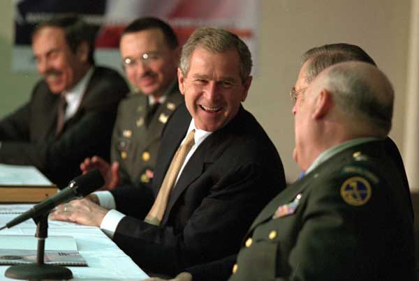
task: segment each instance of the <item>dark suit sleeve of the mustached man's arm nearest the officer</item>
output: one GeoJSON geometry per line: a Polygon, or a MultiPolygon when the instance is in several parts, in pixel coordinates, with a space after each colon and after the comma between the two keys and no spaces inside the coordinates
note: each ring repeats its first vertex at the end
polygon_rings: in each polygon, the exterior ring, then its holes
{"type": "Polygon", "coordinates": [[[84,155],[107,154],[106,149],[98,151],[98,148],[109,147],[110,127],[114,120],[112,112],[87,112],[58,140],[2,142],[0,162],[34,165],[52,181],[59,182],[62,174],[68,172],[68,167],[78,167],[84,155]]]}

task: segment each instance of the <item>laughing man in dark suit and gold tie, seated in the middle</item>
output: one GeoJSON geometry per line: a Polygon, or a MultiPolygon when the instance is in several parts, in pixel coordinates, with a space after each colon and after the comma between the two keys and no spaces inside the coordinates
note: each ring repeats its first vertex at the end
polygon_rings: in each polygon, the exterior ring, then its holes
{"type": "Polygon", "coordinates": [[[74,200],[50,218],[101,227],[149,273],[173,275],[237,252],[260,208],[285,187],[274,144],[242,106],[251,66],[238,36],[196,29],[177,70],[185,103],[163,130],[152,189],[122,186],[110,204],[101,195],[101,206],[74,200]]]}

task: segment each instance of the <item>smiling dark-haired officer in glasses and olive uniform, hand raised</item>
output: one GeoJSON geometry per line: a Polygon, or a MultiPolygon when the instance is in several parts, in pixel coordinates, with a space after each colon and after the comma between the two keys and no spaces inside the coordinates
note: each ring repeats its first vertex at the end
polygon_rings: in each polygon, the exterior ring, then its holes
{"type": "Polygon", "coordinates": [[[112,135],[112,165],[101,158],[87,158],[84,172],[98,167],[113,174],[107,189],[131,183],[147,184],[153,176],[163,127],[177,105],[184,101],[177,85],[179,46],[166,22],[143,17],[129,24],[119,45],[122,66],[138,89],[118,108],[112,135]]]}

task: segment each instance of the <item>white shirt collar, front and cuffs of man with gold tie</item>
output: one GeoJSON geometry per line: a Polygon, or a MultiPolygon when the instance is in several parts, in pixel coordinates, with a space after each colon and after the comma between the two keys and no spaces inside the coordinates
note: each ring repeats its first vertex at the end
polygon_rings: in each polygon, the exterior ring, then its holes
{"type": "MultiPolygon", "coordinates": [[[[200,146],[200,144],[203,143],[203,141],[212,134],[212,132],[207,132],[205,130],[199,130],[195,127],[195,121],[193,121],[193,119],[191,120],[191,123],[189,124],[189,128],[188,131],[186,132],[186,135],[184,137],[184,139],[182,140],[181,145],[184,143],[186,136],[189,134],[189,132],[191,132],[191,130],[195,130],[195,144],[193,144],[193,146],[191,147],[191,150],[189,151],[189,153],[186,155],[186,158],[184,160],[184,163],[182,165],[182,167],[180,168],[179,174],[177,175],[177,179],[176,179],[176,183],[177,180],[179,180],[179,176],[180,174],[182,174],[182,171],[184,169],[184,167],[186,166],[186,163],[189,161],[189,159],[191,159],[191,156],[193,155],[193,153],[195,153],[196,149],[198,149],[198,146],[200,146]]],[[[176,186],[175,183],[175,186],[176,186]]],[[[101,229],[103,230],[103,232],[105,232],[106,235],[108,235],[110,238],[112,238],[115,234],[115,230],[117,229],[117,226],[119,224],[119,222],[122,220],[122,218],[125,217],[125,215],[123,213],[120,213],[119,211],[115,210],[116,208],[116,204],[115,204],[115,199],[112,196],[112,193],[109,191],[98,191],[98,192],[94,192],[99,200],[99,204],[101,206],[103,206],[104,208],[108,208],[110,209],[110,211],[108,211],[108,213],[106,213],[105,217],[103,218],[102,222],[101,222],[101,229]]]]}

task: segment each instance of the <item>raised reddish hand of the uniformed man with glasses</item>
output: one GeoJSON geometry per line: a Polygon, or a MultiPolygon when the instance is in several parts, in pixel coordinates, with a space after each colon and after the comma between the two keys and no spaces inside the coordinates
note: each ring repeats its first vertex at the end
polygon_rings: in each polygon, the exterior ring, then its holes
{"type": "Polygon", "coordinates": [[[103,185],[100,190],[113,190],[117,188],[121,181],[121,176],[119,175],[119,163],[117,161],[110,165],[102,158],[93,156],[92,158],[84,159],[84,161],[80,164],[80,169],[83,174],[86,174],[94,168],[98,169],[99,172],[101,172],[103,179],[105,179],[105,185],[103,185]]]}

